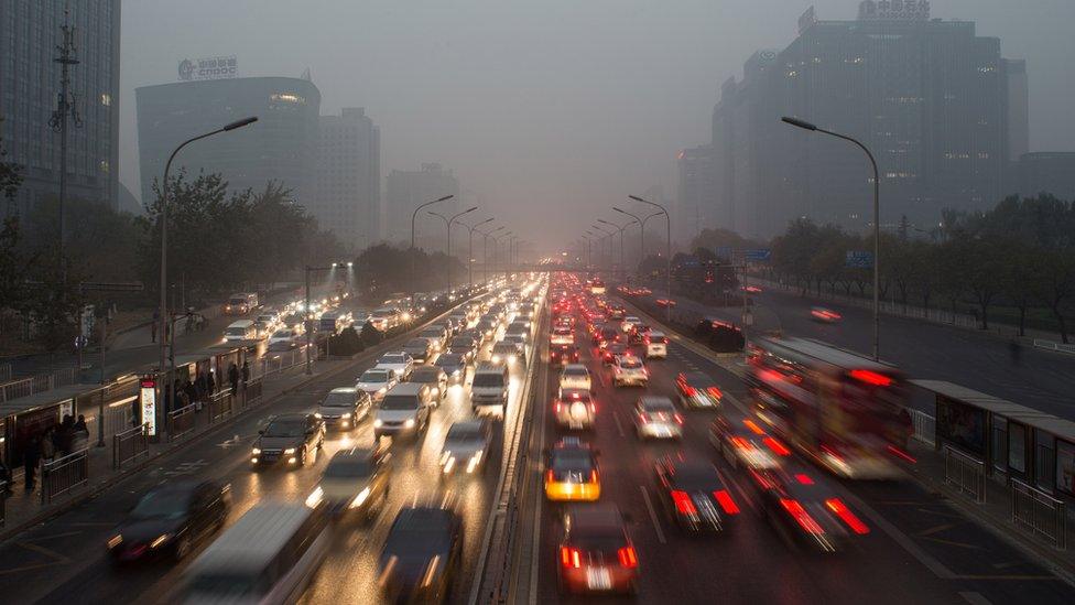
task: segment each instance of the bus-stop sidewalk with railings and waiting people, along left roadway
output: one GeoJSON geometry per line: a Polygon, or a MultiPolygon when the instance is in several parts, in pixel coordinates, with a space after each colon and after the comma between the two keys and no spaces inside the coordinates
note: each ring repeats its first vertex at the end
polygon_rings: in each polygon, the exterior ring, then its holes
{"type": "Polygon", "coordinates": [[[297,365],[286,371],[278,372],[262,383],[262,393],[259,398],[257,398],[257,400],[251,400],[245,406],[240,406],[237,401],[230,415],[218,419],[216,422],[213,422],[210,418],[210,407],[205,404],[203,406],[202,410],[194,413],[193,426],[189,432],[185,432],[181,437],[173,441],[150,443],[145,454],[140,455],[137,460],[124,463],[124,465],[118,469],[113,468],[112,465],[112,443],[110,441],[106,441],[104,447],[98,447],[96,436],[94,436],[90,439],[89,449],[87,451],[87,482],[79,487],[72,489],[67,494],[56,497],[52,503],[48,504],[42,504],[40,468],[37,471],[36,485],[32,490],[25,489],[25,483],[21,476],[22,469],[19,468],[19,473],[13,478],[14,485],[11,486],[11,494],[8,495],[6,503],[3,503],[4,522],[2,529],[0,529],[0,540],[4,540],[30,526],[43,522],[46,519],[54,517],[88,498],[91,498],[94,495],[108,488],[110,485],[144,468],[154,460],[166,455],[178,447],[186,446],[192,441],[200,439],[211,430],[225,425],[226,423],[234,421],[236,418],[246,414],[251,410],[265,407],[280,396],[301,388],[307,382],[330,376],[332,374],[348,367],[351,361],[351,358],[316,361],[313,366],[314,374],[312,376],[306,376],[303,372],[302,365],[297,365]]]}

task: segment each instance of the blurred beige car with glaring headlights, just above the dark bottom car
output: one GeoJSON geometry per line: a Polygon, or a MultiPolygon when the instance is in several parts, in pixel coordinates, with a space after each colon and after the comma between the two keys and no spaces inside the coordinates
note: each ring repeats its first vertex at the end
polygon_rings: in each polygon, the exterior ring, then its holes
{"type": "Polygon", "coordinates": [[[324,503],[339,518],[372,520],[388,501],[392,454],[384,447],[349,447],[333,454],[307,506],[324,503]]]}

